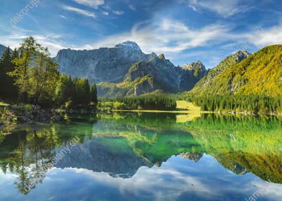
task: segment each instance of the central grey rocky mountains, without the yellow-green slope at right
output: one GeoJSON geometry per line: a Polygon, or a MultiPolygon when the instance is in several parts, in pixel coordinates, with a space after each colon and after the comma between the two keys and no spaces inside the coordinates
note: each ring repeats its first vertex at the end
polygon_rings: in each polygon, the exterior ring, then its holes
{"type": "Polygon", "coordinates": [[[181,68],[163,54],[143,53],[132,41],[113,48],[64,49],[53,60],[60,64],[60,73],[87,77],[98,84],[99,96],[108,97],[189,91],[207,73],[200,61],[181,68]]]}

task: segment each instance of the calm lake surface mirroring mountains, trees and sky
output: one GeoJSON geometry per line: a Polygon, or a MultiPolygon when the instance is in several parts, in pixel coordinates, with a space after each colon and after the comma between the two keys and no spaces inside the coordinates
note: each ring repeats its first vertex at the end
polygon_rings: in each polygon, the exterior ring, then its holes
{"type": "Polygon", "coordinates": [[[113,113],[6,128],[0,200],[282,200],[281,118],[183,119],[113,113]]]}

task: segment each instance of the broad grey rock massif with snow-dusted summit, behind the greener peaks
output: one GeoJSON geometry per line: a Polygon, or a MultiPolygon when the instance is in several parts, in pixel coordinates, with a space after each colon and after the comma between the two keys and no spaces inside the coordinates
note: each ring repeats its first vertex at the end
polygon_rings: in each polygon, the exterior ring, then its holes
{"type": "Polygon", "coordinates": [[[53,60],[59,63],[60,73],[87,77],[91,83],[118,83],[132,64],[155,56],[155,53],[144,54],[135,42],[126,41],[113,48],[60,50],[53,60]]]}

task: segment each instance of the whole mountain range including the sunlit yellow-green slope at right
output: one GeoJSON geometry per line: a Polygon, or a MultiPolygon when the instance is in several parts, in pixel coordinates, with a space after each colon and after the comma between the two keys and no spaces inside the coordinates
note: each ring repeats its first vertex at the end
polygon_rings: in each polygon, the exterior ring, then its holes
{"type": "MultiPolygon", "coordinates": [[[[0,55],[7,47],[0,45],[0,55]]],[[[282,95],[282,45],[238,51],[206,70],[201,61],[175,66],[164,54],[145,54],[132,41],[113,48],[60,50],[60,73],[97,83],[99,97],[160,92],[282,95]]]]}

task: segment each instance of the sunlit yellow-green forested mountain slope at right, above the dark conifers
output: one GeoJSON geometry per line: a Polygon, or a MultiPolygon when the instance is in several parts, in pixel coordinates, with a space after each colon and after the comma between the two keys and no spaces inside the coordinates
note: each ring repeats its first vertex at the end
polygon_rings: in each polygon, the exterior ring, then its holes
{"type": "Polygon", "coordinates": [[[282,45],[272,45],[251,54],[239,63],[223,61],[220,66],[212,69],[191,93],[281,96],[281,59],[282,45]],[[224,71],[219,71],[221,69],[224,71]]]}

